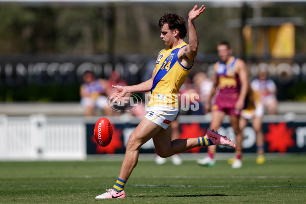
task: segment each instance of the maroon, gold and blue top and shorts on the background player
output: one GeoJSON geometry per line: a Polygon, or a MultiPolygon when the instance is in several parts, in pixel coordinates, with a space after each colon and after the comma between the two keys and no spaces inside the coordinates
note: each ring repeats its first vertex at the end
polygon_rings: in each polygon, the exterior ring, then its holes
{"type": "Polygon", "coordinates": [[[214,72],[218,77],[218,95],[212,111],[223,111],[228,115],[239,115],[240,111],[234,109],[240,92],[237,58],[231,57],[226,64],[217,62],[214,65],[214,72]]]}

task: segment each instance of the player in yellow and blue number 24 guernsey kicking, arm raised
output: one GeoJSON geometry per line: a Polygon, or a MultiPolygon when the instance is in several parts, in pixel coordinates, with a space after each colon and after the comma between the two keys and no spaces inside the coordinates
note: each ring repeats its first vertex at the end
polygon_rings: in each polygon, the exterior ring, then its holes
{"type": "Polygon", "coordinates": [[[158,55],[151,79],[133,86],[113,86],[116,91],[110,99],[120,103],[126,93],[151,91],[147,114],[131,134],[126,144],[125,156],[119,177],[107,192],[96,199],[124,198],[124,185],[136,167],[140,147],[153,139],[156,152],[166,158],[198,146],[224,145],[235,148],[230,139],[209,130],[198,138],[176,139],[171,141],[171,122],[179,112],[177,93],[187,78],[197,55],[198,38],[193,21],[205,10],[202,5],[189,12],[189,44],[183,39],[187,35],[187,25],[183,17],[165,13],[159,20],[161,39],[167,46],[158,55]]]}

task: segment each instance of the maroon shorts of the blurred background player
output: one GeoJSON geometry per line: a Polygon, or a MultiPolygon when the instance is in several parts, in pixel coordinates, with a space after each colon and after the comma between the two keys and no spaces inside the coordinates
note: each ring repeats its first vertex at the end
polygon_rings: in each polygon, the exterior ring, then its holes
{"type": "Polygon", "coordinates": [[[235,109],[235,104],[238,98],[221,99],[216,97],[215,103],[212,106],[212,112],[222,111],[227,115],[240,116],[240,111],[235,109]]]}

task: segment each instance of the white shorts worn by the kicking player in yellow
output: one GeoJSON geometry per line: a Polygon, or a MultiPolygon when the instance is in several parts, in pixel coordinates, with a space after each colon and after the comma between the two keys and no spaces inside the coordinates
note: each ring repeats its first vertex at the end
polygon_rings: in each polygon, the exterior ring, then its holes
{"type": "Polygon", "coordinates": [[[147,114],[144,117],[163,129],[167,129],[177,113],[179,113],[179,109],[172,106],[151,106],[147,108],[147,114]]]}

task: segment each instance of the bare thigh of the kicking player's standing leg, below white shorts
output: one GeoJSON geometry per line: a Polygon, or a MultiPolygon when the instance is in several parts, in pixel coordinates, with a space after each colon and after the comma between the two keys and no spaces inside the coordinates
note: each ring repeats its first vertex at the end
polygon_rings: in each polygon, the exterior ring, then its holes
{"type": "Polygon", "coordinates": [[[126,150],[140,149],[141,145],[154,137],[161,129],[161,126],[143,118],[127,141],[126,150]]]}

